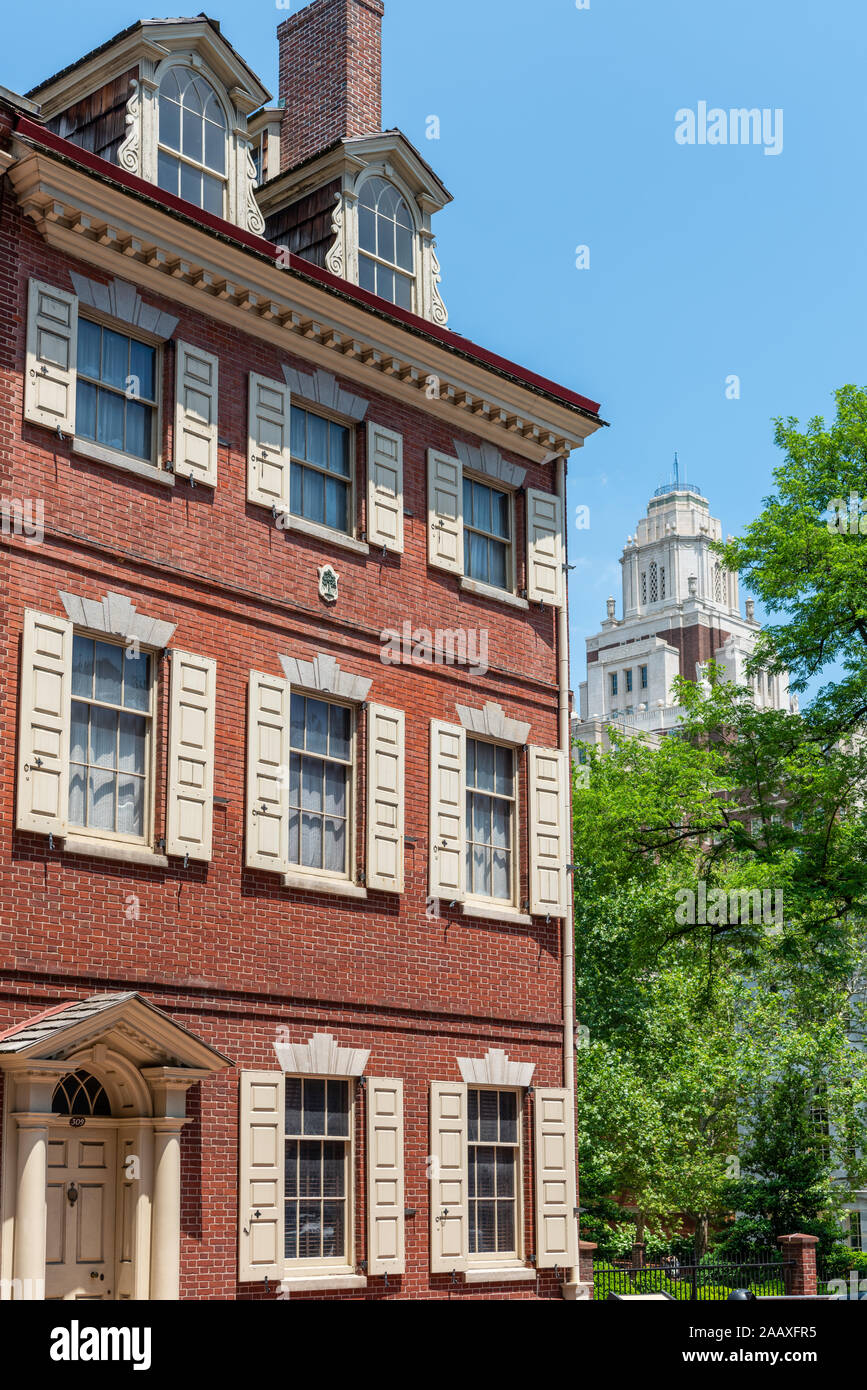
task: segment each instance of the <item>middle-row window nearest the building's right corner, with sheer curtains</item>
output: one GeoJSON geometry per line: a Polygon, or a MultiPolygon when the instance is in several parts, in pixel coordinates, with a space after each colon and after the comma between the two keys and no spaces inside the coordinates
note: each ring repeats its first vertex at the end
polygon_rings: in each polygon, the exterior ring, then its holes
{"type": "Polygon", "coordinates": [[[511,902],[514,752],[467,739],[467,892],[511,902]]]}

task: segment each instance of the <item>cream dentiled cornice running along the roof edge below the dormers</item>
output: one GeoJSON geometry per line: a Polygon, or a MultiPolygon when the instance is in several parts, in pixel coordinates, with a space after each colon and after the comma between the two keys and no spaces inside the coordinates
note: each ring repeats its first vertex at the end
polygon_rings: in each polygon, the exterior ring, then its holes
{"type": "Polygon", "coordinates": [[[534,461],[549,452],[568,455],[600,428],[579,409],[464,359],[459,348],[379,317],[115,183],[22,140],[17,153],[10,179],[18,202],[46,242],[68,256],[135,275],[140,286],[534,461]]]}

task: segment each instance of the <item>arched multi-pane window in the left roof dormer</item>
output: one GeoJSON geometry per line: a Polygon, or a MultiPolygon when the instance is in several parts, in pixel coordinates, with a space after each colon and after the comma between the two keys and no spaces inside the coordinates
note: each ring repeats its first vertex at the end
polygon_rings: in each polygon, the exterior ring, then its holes
{"type": "Polygon", "coordinates": [[[157,183],[224,215],[226,118],[213,86],[192,68],[170,68],[160,83],[157,183]]]}

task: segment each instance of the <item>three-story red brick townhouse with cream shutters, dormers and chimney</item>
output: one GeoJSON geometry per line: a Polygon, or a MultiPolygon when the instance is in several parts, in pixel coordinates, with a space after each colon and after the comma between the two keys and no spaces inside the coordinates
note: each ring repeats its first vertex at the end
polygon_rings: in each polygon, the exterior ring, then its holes
{"type": "Polygon", "coordinates": [[[381,11],[288,19],[282,106],[201,17],[0,103],[3,1298],[579,1293],[600,420],[445,327],[381,11]]]}

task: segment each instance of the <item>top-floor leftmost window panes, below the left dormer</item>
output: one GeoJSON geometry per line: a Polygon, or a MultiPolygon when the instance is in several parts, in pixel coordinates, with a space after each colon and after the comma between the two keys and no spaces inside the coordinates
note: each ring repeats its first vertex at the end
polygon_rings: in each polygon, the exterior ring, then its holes
{"type": "Polygon", "coordinates": [[[75,434],[153,463],[156,417],[157,349],[79,318],[75,434]]]}

